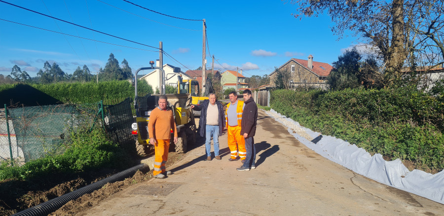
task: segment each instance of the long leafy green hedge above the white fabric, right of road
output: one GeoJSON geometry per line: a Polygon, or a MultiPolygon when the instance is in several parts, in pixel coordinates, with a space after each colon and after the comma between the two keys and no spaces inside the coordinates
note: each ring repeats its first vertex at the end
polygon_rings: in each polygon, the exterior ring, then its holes
{"type": "Polygon", "coordinates": [[[444,169],[444,101],[411,88],[275,90],[271,107],[302,126],[418,169],[444,169]]]}

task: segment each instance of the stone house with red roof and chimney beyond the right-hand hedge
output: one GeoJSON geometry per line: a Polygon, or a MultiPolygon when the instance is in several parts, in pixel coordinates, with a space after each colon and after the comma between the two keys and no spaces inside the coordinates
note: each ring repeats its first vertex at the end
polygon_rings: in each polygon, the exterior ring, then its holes
{"type": "Polygon", "coordinates": [[[333,66],[328,63],[315,62],[313,56],[309,55],[307,60],[292,58],[274,72],[270,73],[270,86],[274,87],[276,71],[288,70],[291,73],[290,86],[296,87],[314,87],[327,89],[327,76],[333,70],[333,66]]]}

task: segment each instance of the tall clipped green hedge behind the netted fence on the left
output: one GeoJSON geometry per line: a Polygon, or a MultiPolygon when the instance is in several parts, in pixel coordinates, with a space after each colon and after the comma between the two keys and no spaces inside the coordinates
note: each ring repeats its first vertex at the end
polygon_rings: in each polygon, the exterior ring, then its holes
{"type": "MultiPolygon", "coordinates": [[[[138,81],[138,93],[152,94],[152,87],[145,80],[138,81]]],[[[2,84],[0,103],[26,106],[55,103],[97,103],[101,100],[134,98],[134,87],[126,80],[104,82],[58,82],[52,84],[2,84]]]]}

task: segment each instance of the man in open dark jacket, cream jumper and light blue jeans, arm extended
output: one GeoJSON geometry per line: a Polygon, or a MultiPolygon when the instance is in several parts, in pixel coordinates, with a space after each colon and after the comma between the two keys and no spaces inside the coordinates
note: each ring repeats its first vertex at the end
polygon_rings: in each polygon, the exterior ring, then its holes
{"type": "Polygon", "coordinates": [[[191,108],[200,112],[199,130],[200,136],[205,135],[205,150],[207,152],[207,160],[211,160],[211,137],[213,137],[214,156],[221,160],[219,156],[219,136],[222,136],[223,126],[225,125],[225,117],[223,116],[223,106],[221,102],[216,100],[216,95],[210,93],[209,100],[205,100],[202,104],[191,108]]]}

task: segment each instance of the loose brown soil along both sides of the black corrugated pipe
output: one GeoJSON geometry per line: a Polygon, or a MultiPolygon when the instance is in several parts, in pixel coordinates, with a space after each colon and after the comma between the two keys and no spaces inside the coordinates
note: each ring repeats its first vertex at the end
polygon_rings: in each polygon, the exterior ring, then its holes
{"type": "MultiPolygon", "coordinates": [[[[170,152],[167,168],[182,157],[182,154],[170,152]]],[[[85,172],[75,175],[55,175],[45,179],[32,181],[25,180],[3,180],[0,181],[0,216],[9,216],[26,210],[48,200],[69,193],[88,184],[102,180],[119,172],[120,170],[101,170],[96,172],[85,172]]],[[[108,196],[123,190],[124,188],[152,177],[152,171],[147,174],[137,172],[133,177],[108,183],[101,189],[91,194],[85,194],[77,200],[72,200],[54,212],[52,215],[65,216],[75,215],[89,207],[97,204],[108,196]]]]}

